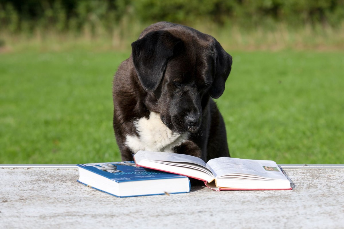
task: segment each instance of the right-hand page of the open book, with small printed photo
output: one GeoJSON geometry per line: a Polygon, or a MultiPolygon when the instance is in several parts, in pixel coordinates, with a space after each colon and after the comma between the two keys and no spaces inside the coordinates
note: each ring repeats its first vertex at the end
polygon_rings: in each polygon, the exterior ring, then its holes
{"type": "Polygon", "coordinates": [[[239,175],[243,179],[245,177],[270,180],[287,179],[274,161],[221,157],[209,160],[207,164],[212,168],[215,178],[239,175]]]}

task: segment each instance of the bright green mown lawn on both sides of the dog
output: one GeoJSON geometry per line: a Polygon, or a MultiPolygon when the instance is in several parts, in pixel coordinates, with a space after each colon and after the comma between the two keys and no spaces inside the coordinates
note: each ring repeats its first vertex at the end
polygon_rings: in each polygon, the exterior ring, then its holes
{"type": "MultiPolygon", "coordinates": [[[[232,157],[344,163],[341,52],[230,52],[217,104],[232,157]]],[[[129,52],[0,54],[0,164],[120,160],[112,76],[129,52]]]]}

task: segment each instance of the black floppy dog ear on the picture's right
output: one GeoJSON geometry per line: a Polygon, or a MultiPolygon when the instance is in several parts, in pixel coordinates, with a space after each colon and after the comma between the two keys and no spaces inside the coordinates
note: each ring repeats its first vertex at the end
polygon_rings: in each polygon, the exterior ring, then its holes
{"type": "Polygon", "coordinates": [[[215,40],[215,76],[209,94],[212,98],[219,98],[225,91],[225,83],[232,69],[232,56],[215,40]]]}

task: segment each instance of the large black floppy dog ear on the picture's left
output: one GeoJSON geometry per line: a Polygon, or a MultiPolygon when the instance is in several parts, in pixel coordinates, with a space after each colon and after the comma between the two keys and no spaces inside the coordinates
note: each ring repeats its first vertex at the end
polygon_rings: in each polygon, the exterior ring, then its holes
{"type": "Polygon", "coordinates": [[[152,31],[131,44],[132,59],[139,80],[146,91],[155,91],[168,60],[183,44],[167,31],[152,31]]]}

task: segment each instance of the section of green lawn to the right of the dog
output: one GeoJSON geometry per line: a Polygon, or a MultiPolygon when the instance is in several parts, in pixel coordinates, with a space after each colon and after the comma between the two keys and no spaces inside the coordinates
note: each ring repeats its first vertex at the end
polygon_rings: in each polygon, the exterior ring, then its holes
{"type": "Polygon", "coordinates": [[[218,101],[233,157],[344,163],[343,53],[235,53],[218,101]]]}

